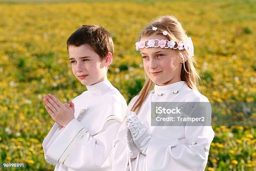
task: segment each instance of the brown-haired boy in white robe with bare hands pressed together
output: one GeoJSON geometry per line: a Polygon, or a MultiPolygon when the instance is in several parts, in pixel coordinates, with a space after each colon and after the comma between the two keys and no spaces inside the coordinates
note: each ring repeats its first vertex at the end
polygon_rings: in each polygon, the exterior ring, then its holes
{"type": "Polygon", "coordinates": [[[87,87],[69,104],[44,96],[46,110],[56,122],[43,141],[44,156],[55,171],[110,170],[112,149],[127,104],[108,81],[113,40],[96,25],[82,25],[67,40],[74,76],[87,87]]]}

